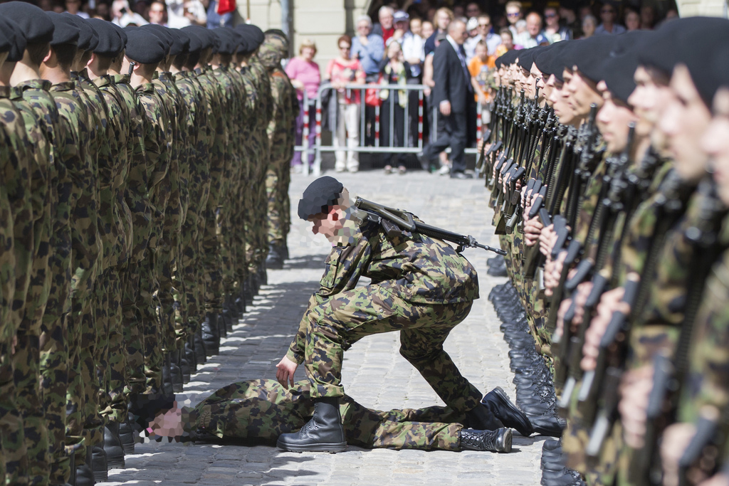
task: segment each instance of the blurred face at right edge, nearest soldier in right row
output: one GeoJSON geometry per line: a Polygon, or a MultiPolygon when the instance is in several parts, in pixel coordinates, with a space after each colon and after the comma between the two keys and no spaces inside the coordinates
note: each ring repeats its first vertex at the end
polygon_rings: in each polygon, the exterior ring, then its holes
{"type": "Polygon", "coordinates": [[[719,197],[729,205],[729,89],[714,96],[714,117],[701,138],[701,146],[714,162],[714,181],[719,197]]]}

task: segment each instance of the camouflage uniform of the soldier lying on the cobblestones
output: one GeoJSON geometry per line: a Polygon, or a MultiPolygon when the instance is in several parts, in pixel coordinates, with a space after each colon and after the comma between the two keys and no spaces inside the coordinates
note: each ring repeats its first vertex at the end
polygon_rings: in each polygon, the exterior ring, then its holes
{"type": "MultiPolygon", "coordinates": [[[[223,439],[259,439],[298,431],[313,415],[310,385],[286,390],[275,380],[249,380],[221,388],[189,410],[185,428],[223,439]]],[[[347,443],[366,448],[459,450],[463,416],[448,407],[368,409],[349,396],[340,399],[347,443]]]]}

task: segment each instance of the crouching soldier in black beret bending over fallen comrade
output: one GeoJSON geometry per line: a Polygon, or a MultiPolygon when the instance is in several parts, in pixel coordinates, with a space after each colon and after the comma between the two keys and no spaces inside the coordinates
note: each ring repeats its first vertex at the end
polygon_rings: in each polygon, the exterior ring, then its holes
{"type": "MultiPolygon", "coordinates": [[[[466,414],[474,427],[498,428],[501,423],[491,409],[479,403],[483,395],[443,350],[451,329],[466,318],[478,298],[472,265],[443,241],[417,232],[386,235],[377,224],[367,220],[356,223],[352,211],[348,192],[331,177],[314,181],[300,200],[300,218],[313,222],[313,232],[326,235],[334,248],[327,258],[321,287],[309,300],[289,352],[277,365],[278,381],[282,385],[289,380],[293,383],[295,369],[305,364],[311,396],[320,411],[312,420],[327,418],[327,412],[336,412],[338,399],[344,395],[344,350],[364,336],[399,331],[400,353],[448,407],[466,414]],[[408,264],[402,264],[402,258],[408,264]],[[355,289],[362,275],[372,278],[373,283],[355,289]]],[[[529,421],[518,409],[503,408],[499,415],[507,420],[507,426],[518,423],[521,431],[531,433],[529,421]]],[[[308,437],[305,430],[282,435],[279,447],[340,448],[341,441],[326,439],[326,432],[324,438],[316,434],[308,437]]]]}

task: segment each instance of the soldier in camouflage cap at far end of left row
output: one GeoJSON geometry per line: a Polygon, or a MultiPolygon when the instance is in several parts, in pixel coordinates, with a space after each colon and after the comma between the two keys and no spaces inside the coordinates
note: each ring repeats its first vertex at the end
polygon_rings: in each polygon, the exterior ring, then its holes
{"type": "Polygon", "coordinates": [[[296,90],[281,68],[281,60],[288,56],[289,41],[280,31],[268,31],[261,44],[258,58],[268,70],[273,117],[268,125],[270,140],[270,162],[266,171],[266,194],[268,195],[268,245],[266,266],[282,268],[286,259],[286,235],[289,232],[289,162],[293,157],[293,137],[299,103],[296,90]]]}

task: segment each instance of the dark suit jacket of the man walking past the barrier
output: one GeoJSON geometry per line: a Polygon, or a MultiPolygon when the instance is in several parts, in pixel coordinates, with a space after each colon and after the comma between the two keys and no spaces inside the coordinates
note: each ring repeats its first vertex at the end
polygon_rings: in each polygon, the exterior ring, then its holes
{"type": "MultiPolygon", "coordinates": [[[[465,62],[465,61],[464,61],[465,62]]],[[[451,102],[453,113],[465,113],[468,99],[473,98],[469,91],[471,77],[468,69],[461,64],[456,50],[448,40],[444,40],[435,50],[433,58],[433,101],[437,106],[441,101],[451,102]]]]}

